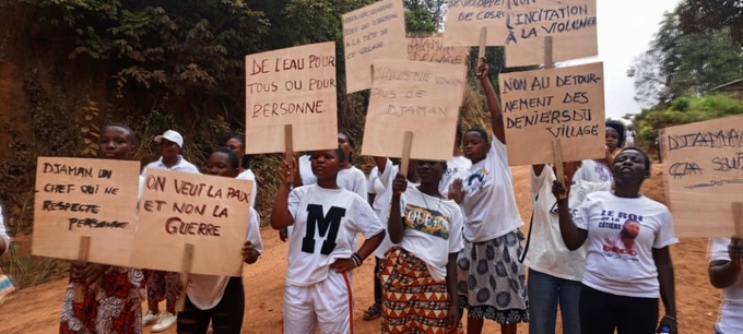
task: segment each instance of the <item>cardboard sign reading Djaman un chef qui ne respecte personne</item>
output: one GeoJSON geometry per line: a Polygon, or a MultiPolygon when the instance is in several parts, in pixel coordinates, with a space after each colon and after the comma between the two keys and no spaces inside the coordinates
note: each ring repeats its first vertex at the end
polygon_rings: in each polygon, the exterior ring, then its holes
{"type": "Polygon", "coordinates": [[[137,230],[139,163],[39,157],[32,254],[76,260],[90,236],[90,262],[128,265],[137,230]]]}

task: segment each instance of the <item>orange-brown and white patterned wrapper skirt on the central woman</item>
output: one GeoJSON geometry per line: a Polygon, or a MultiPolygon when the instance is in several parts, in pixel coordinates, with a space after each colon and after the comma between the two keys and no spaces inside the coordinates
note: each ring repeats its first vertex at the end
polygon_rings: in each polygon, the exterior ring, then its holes
{"type": "Polygon", "coordinates": [[[462,333],[461,323],[447,332],[450,302],[446,282],[435,282],[421,259],[399,247],[391,248],[379,279],[382,333],[462,333]]]}

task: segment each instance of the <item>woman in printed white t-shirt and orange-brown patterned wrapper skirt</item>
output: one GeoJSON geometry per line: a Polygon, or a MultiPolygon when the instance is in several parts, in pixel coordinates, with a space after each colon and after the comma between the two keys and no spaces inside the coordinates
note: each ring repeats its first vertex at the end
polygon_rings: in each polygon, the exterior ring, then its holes
{"type": "Polygon", "coordinates": [[[446,164],[416,164],[421,186],[409,187],[405,176],[399,172],[392,187],[387,230],[396,246],[385,255],[380,274],[381,332],[456,333],[462,213],[455,201],[439,193],[446,164]]]}

